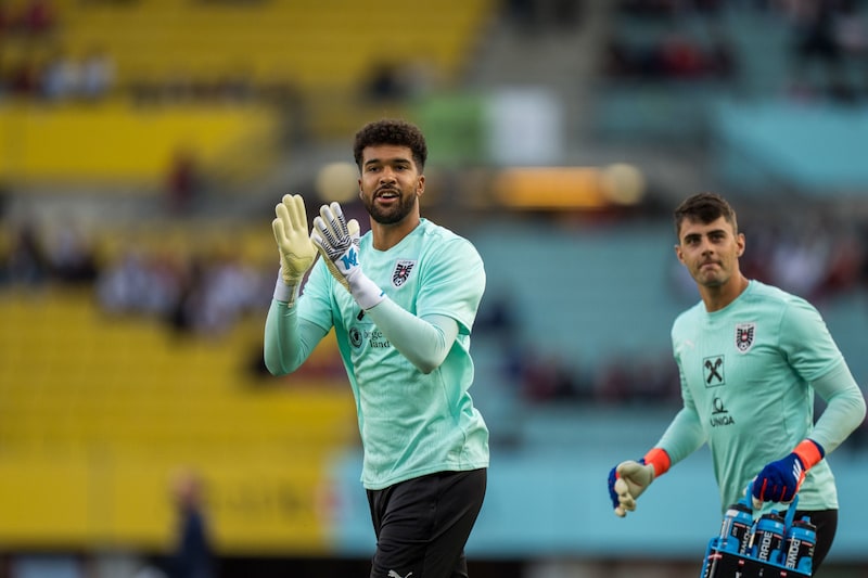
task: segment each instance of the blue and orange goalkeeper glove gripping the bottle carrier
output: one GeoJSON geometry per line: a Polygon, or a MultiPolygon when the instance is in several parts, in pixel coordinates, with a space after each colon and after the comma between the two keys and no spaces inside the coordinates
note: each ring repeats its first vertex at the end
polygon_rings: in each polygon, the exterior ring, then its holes
{"type": "Polygon", "coordinates": [[[763,467],[753,481],[751,493],[754,509],[762,508],[763,502],[792,502],[807,471],[825,455],[822,446],[813,439],[805,439],[792,453],[763,467]]]}

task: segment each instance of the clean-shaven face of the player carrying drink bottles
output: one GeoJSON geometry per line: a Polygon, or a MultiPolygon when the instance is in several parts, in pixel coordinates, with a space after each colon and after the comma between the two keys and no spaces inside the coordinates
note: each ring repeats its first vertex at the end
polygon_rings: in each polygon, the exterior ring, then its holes
{"type": "Polygon", "coordinates": [[[724,217],[709,223],[686,219],[681,222],[675,253],[698,285],[720,287],[739,271],[744,235],[736,233],[724,217]]]}

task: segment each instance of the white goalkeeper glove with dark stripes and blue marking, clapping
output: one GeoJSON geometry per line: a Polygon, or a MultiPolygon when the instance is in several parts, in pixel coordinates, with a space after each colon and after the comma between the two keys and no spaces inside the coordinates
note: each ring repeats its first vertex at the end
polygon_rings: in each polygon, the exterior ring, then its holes
{"type": "Polygon", "coordinates": [[[385,298],[376,284],[361,270],[359,261],[359,223],[344,217],[341,205],[322,205],[314,219],[310,241],[322,254],[329,271],[353,296],[362,310],[385,298]]]}

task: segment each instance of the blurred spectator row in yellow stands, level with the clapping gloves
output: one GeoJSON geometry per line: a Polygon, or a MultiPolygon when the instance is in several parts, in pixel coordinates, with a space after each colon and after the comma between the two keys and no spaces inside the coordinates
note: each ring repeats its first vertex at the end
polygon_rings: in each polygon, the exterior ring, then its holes
{"type": "Polygon", "coordinates": [[[104,239],[72,226],[44,231],[25,222],[10,233],[0,288],[38,295],[50,286],[86,287],[106,316],[164,321],[182,335],[218,337],[265,311],[273,290],[273,269],[243,262],[226,247],[188,254],[130,243],[105,257],[104,239]]]}

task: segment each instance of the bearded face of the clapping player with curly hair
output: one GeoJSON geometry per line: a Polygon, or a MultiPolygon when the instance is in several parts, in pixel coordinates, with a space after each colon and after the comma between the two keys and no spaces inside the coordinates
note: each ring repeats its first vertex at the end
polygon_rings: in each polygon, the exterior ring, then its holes
{"type": "Polygon", "coordinates": [[[366,146],[361,156],[359,197],[371,218],[395,224],[418,216],[425,177],[419,174],[409,146],[366,146]]]}

